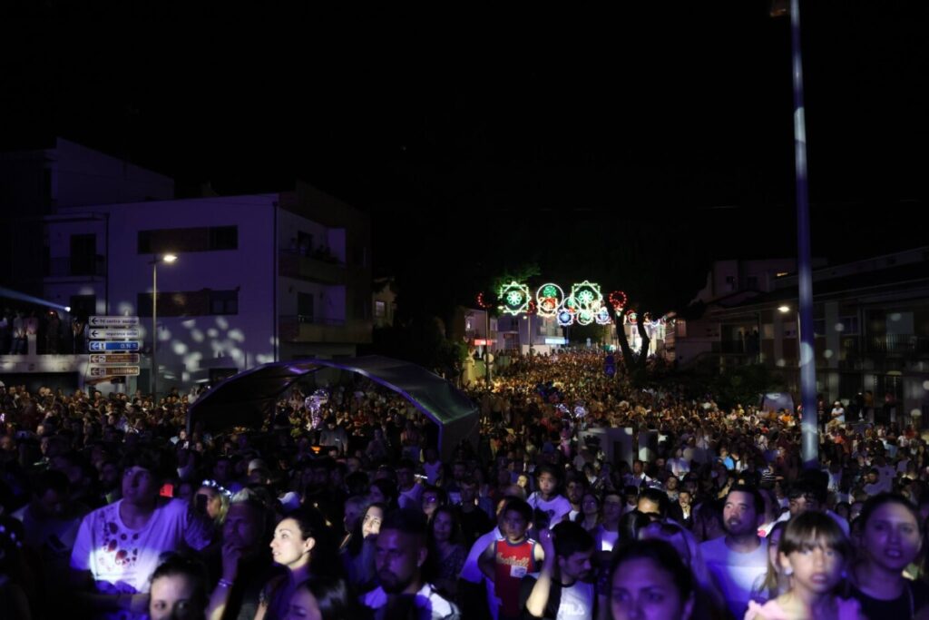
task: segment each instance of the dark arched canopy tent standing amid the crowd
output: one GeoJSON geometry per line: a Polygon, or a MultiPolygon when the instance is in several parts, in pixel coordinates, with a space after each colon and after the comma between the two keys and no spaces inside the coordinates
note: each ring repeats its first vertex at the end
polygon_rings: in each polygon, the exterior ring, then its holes
{"type": "Polygon", "coordinates": [[[392,389],[438,425],[439,452],[451,456],[462,440],[477,442],[478,407],[442,377],[400,360],[370,355],[340,360],[293,360],[266,363],[246,370],[207,390],[190,406],[188,429],[203,423],[207,430],[232,427],[260,429],[273,416],[281,394],[302,376],[322,368],[366,376],[392,389]]]}

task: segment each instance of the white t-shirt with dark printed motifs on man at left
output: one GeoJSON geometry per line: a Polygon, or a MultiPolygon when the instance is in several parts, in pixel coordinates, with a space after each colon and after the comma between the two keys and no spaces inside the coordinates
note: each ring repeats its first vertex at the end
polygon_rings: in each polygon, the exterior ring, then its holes
{"type": "MultiPolygon", "coordinates": [[[[210,524],[200,518],[188,502],[167,501],[155,508],[144,527],[133,530],[120,517],[123,501],[88,514],[81,521],[72,549],[72,569],[90,571],[102,594],[148,592],[149,578],[158,568],[164,552],[176,551],[181,543],[197,550],[210,543],[210,524]]],[[[133,616],[121,612],[107,617],[133,616]]]]}

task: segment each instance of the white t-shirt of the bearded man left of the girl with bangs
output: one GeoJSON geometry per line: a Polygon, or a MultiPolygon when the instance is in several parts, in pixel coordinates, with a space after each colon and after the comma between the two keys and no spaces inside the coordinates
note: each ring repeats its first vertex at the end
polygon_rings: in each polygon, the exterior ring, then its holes
{"type": "Polygon", "coordinates": [[[752,586],[767,573],[767,539],[760,538],[759,542],[758,548],[751,553],[737,553],[730,549],[726,545],[726,536],[700,543],[706,567],[715,577],[726,606],[736,618],[745,615],[752,598],[752,586]]]}

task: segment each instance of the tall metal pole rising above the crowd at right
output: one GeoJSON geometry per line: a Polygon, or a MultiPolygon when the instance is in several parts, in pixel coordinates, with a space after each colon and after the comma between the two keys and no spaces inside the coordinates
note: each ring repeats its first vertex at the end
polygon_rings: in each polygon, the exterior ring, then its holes
{"type": "Polygon", "coordinates": [[[800,306],[797,323],[800,340],[800,392],[804,403],[801,455],[804,468],[819,468],[816,402],[816,349],[813,336],[813,273],[810,260],[809,192],[806,177],[806,121],[804,66],[800,47],[800,0],[791,0],[793,62],[793,148],[797,187],[797,274],[800,306]]]}

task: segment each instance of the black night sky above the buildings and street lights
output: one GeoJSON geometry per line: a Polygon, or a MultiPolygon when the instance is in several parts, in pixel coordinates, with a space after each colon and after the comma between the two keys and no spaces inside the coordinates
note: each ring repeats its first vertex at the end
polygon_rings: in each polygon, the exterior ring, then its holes
{"type": "MultiPolygon", "coordinates": [[[[676,303],[713,258],[795,253],[790,29],[766,1],[642,4],[473,27],[33,23],[3,44],[0,146],[60,135],[182,195],[302,178],[372,213],[376,271],[443,297],[536,261],[676,303]]],[[[929,3],[805,7],[814,253],[924,244],[929,3]]]]}

